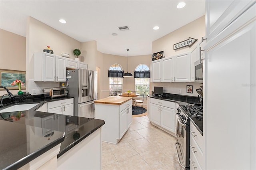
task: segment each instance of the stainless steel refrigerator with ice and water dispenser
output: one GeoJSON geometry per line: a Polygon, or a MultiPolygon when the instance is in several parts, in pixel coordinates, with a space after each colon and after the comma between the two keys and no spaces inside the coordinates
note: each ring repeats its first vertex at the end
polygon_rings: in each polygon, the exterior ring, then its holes
{"type": "Polygon", "coordinates": [[[86,69],[66,70],[68,96],[74,97],[74,116],[94,118],[97,99],[97,72],[86,69]]]}

